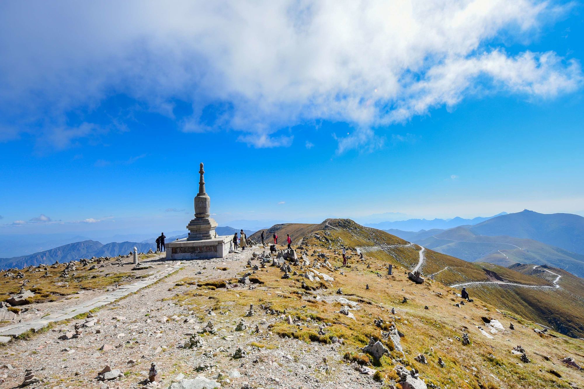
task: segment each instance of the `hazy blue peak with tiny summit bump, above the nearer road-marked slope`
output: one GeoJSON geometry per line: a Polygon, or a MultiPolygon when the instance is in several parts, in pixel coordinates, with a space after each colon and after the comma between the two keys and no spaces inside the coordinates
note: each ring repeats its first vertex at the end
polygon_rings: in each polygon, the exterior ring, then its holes
{"type": "Polygon", "coordinates": [[[468,229],[476,235],[534,239],[584,254],[584,217],[574,214],[524,210],[486,220],[468,229]]]}

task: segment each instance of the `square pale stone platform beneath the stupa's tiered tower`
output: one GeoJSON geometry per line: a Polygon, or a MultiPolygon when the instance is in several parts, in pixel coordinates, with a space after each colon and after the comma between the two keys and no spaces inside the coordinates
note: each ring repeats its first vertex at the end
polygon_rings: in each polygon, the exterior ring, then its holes
{"type": "Polygon", "coordinates": [[[185,259],[223,258],[229,253],[233,237],[216,237],[189,241],[187,238],[166,244],[166,259],[169,261],[185,259]]]}

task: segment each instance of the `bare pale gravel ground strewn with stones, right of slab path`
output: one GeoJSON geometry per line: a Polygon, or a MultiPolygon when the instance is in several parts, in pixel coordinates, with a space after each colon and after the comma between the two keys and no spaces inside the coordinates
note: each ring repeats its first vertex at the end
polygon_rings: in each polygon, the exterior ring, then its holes
{"type": "MultiPolygon", "coordinates": [[[[75,325],[88,319],[69,321],[27,341],[15,340],[1,350],[2,387],[16,387],[25,380],[25,369],[32,370],[42,387],[142,387],[148,382],[151,363],[157,363],[161,385],[169,385],[182,376],[202,374],[224,387],[369,387],[371,376],[359,374],[348,364],[338,363],[338,346],[310,345],[298,339],[276,338],[267,324],[277,318],[258,310],[245,318],[248,328],[235,331],[239,320],[213,312],[201,320],[200,311],[172,302],[169,291],[180,280],[237,277],[246,269],[252,249],[232,253],[223,259],[196,261],[147,289],[107,305],[93,314],[98,323],[82,328],[82,336],[60,339],[75,325]],[[228,268],[218,270],[218,268],[228,268]],[[213,322],[215,334],[201,339],[201,348],[182,348],[190,336],[213,322]],[[256,325],[260,333],[256,334],[256,325]],[[275,340],[277,347],[262,347],[275,340]],[[260,347],[249,346],[256,342],[260,347]],[[242,347],[247,355],[233,359],[242,347]],[[103,383],[96,379],[106,366],[119,369],[123,376],[103,383]]],[[[259,250],[256,249],[256,252],[259,250]]],[[[205,307],[200,307],[204,310],[205,307]]],[[[89,318],[91,319],[91,318],[89,318]]],[[[152,384],[151,384],[152,385],[152,384]]]]}

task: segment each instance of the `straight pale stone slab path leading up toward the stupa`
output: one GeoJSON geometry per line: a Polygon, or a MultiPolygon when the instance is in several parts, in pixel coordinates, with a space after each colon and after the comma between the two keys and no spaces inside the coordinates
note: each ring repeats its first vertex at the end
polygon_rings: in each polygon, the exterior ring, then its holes
{"type": "Polygon", "coordinates": [[[27,331],[32,330],[33,332],[37,332],[40,329],[47,327],[48,324],[52,322],[62,321],[71,319],[79,314],[84,314],[86,312],[91,311],[94,308],[102,307],[103,305],[107,305],[112,303],[113,301],[118,300],[121,297],[127,296],[130,293],[134,293],[143,287],[149,286],[159,279],[162,279],[172,272],[183,268],[184,266],[188,266],[185,263],[177,262],[174,265],[168,265],[164,269],[158,270],[158,272],[154,273],[150,277],[146,277],[138,282],[133,284],[123,285],[120,286],[118,289],[111,291],[110,293],[102,294],[102,296],[98,296],[92,298],[91,300],[84,301],[79,305],[75,305],[74,307],[65,308],[63,310],[53,312],[50,315],[42,317],[40,319],[36,319],[29,322],[24,323],[16,323],[12,325],[7,325],[6,327],[0,328],[0,343],[9,342],[12,338],[16,338],[21,334],[24,334],[27,331]]]}

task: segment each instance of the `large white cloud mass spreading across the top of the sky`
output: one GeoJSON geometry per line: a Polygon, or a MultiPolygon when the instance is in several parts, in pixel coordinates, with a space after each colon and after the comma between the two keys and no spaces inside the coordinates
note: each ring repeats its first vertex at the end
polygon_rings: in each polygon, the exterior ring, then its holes
{"type": "Polygon", "coordinates": [[[183,131],[240,131],[237,140],[253,147],[287,147],[293,134],[284,131],[324,119],[355,128],[336,137],[339,152],[371,150],[385,140],[371,128],[468,95],[554,98],[579,88],[578,62],[552,51],[510,55],[499,39],[529,44],[569,6],[289,0],[70,2],[55,9],[4,2],[0,114],[7,123],[0,128],[13,128],[11,139],[28,131],[69,147],[124,126],[68,126],[68,112],[124,94],[172,118],[174,102],[187,102],[193,114],[180,119],[183,131]]]}

